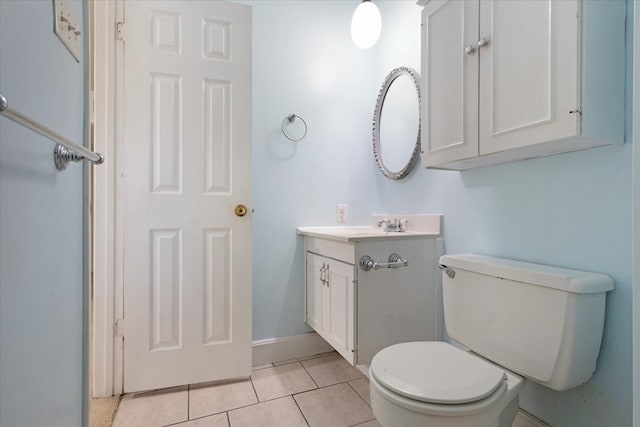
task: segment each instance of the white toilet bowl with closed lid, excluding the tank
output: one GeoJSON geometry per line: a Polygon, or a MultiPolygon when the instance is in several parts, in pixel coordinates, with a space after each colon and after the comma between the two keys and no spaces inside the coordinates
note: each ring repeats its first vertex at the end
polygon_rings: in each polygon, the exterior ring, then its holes
{"type": "Polygon", "coordinates": [[[508,427],[524,382],[444,342],[396,344],[369,367],[371,407],[385,427],[508,427]]]}

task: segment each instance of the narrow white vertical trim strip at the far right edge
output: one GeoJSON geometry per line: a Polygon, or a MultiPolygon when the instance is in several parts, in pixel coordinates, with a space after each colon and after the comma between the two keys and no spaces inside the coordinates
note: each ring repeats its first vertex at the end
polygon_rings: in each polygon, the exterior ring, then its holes
{"type": "Polygon", "coordinates": [[[633,425],[640,427],[640,4],[634,2],[633,37],[633,425]]]}

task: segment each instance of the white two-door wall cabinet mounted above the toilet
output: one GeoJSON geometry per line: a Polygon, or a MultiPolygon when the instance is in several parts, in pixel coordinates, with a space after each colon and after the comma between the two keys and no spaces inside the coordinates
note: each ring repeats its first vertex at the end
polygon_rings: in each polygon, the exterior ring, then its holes
{"type": "Polygon", "coordinates": [[[424,166],[623,142],[624,1],[423,4],[424,166]]]}

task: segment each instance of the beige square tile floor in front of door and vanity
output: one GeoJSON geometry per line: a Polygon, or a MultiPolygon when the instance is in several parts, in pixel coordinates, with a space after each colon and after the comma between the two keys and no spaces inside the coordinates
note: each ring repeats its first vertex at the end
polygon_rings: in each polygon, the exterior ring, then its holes
{"type": "MultiPolygon", "coordinates": [[[[526,414],[513,427],[538,427],[526,414]]],[[[247,379],[122,398],[113,427],[382,427],[369,380],[335,352],[255,366],[247,379]]]]}

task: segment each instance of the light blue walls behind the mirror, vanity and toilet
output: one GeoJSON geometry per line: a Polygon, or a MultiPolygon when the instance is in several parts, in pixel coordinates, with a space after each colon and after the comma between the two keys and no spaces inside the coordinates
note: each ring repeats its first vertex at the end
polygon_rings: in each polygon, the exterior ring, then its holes
{"type": "MultiPolygon", "coordinates": [[[[371,117],[392,68],[419,70],[420,7],[376,2],[383,36],[360,51],[348,33],[356,1],[247,3],[254,19],[254,339],[308,330],[296,226],[335,224],[337,203],[349,205],[350,225],[367,223],[373,212],[442,213],[449,253],[613,277],[594,377],[564,393],[530,383],[521,406],[556,427],[630,426],[631,144],[462,173],[418,167],[389,181],[373,161],[371,117]],[[297,145],[279,131],[291,112],[309,123],[297,145]]],[[[631,82],[630,67],[628,74],[631,82]]]]}

